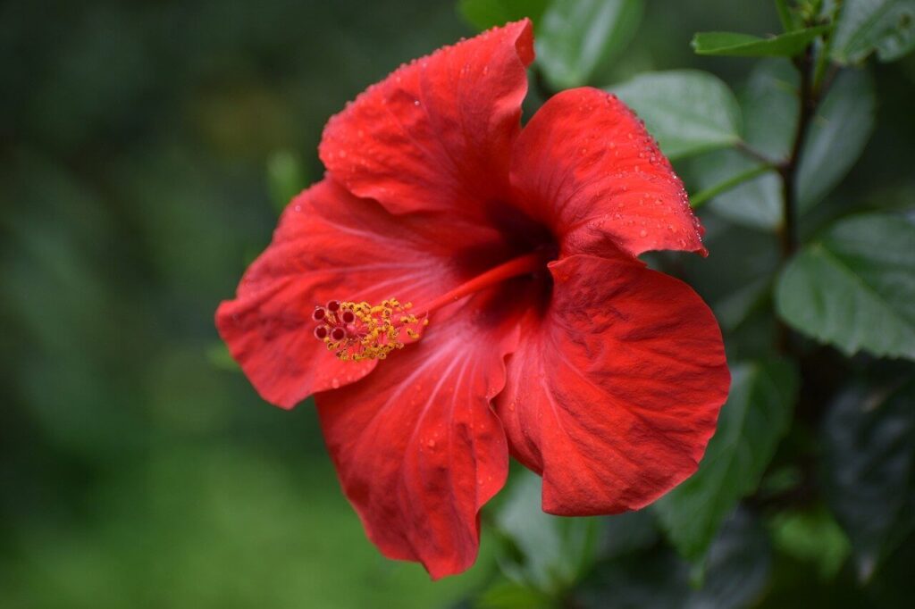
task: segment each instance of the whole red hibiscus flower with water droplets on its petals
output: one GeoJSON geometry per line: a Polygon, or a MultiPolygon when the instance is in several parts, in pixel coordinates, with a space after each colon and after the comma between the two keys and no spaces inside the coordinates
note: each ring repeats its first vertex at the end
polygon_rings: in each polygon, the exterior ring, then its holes
{"type": "Polygon", "coordinates": [[[547,512],[641,508],[694,472],[727,397],[712,313],[637,258],[705,253],[680,179],[603,91],[522,130],[531,29],[442,48],[331,118],[327,176],[216,315],[266,401],[315,395],[369,537],[434,578],[475,560],[509,454],[547,512]]]}

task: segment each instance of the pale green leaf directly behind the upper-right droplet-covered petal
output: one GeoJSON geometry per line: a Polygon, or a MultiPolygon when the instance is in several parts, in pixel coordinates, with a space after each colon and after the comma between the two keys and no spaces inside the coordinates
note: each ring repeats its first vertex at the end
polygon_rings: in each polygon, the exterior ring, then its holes
{"type": "Polygon", "coordinates": [[[647,72],[611,87],[672,158],[736,144],[740,108],[727,85],[696,69],[647,72]]]}

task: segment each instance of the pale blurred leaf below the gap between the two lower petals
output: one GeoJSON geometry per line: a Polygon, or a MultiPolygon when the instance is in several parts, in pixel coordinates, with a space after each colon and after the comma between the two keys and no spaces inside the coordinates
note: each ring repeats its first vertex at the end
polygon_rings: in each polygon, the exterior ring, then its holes
{"type": "Polygon", "coordinates": [[[526,470],[520,474],[496,517],[513,550],[499,564],[511,581],[555,595],[576,582],[594,561],[600,519],[545,514],[540,476],[526,470]]]}

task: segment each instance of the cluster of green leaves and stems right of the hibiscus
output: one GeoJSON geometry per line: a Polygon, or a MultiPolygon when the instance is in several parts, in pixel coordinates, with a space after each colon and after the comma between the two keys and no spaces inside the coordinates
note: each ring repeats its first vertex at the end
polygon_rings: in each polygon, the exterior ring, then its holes
{"type": "MultiPolygon", "coordinates": [[[[490,25],[474,5],[461,8],[490,25]]],[[[898,600],[894,555],[910,554],[915,529],[915,208],[841,185],[877,125],[875,60],[915,48],[915,3],[777,0],[780,33],[694,35],[698,56],[735,58],[716,66],[752,61],[733,88],[700,69],[604,85],[645,9],[540,3],[539,92],[604,86],[684,176],[711,256],[652,263],[715,309],[730,397],[698,472],[600,521],[596,546],[581,540],[593,523],[525,515],[513,497],[497,517],[515,551],[507,580],[479,606],[785,606],[800,572],[819,582],[807,598],[898,600]],[[550,550],[527,545],[533,529],[550,550]]]]}

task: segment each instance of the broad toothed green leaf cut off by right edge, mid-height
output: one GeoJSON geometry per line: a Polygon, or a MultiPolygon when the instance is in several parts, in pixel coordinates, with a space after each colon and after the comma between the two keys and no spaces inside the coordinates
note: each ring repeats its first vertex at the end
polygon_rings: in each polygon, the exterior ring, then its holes
{"type": "Polygon", "coordinates": [[[915,222],[867,214],[835,224],[781,272],[779,315],[846,355],[915,359],[915,222]]]}

